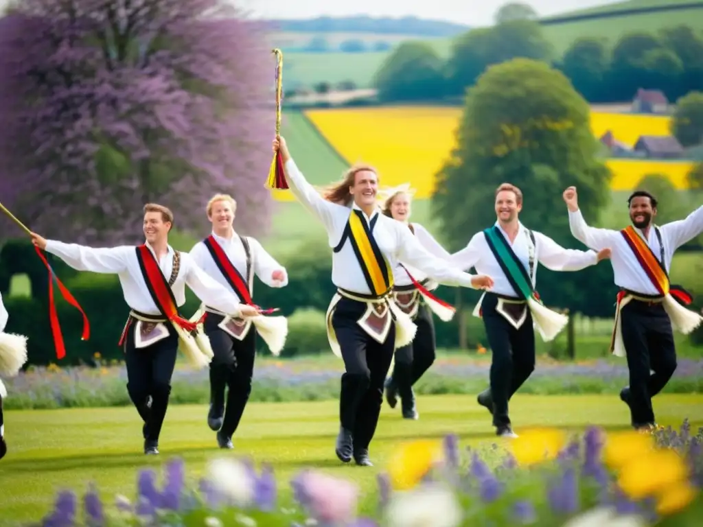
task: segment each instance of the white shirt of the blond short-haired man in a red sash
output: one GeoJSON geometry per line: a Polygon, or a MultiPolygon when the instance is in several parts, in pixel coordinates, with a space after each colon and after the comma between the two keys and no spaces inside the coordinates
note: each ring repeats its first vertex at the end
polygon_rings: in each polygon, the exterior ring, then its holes
{"type": "MultiPolygon", "coordinates": [[[[212,237],[219,243],[219,245],[222,247],[222,250],[224,251],[224,254],[227,255],[229,261],[232,262],[232,265],[246,280],[247,254],[244,250],[244,245],[242,244],[241,238],[238,235],[233,235],[232,238],[222,238],[221,236],[218,236],[215,233],[212,233],[212,237]]],[[[285,285],[288,285],[288,273],[285,273],[285,268],[283,268],[283,266],[280,266],[280,264],[275,259],[273,259],[271,254],[264,250],[264,247],[262,247],[262,245],[257,240],[254,240],[254,238],[250,237],[247,237],[247,240],[249,241],[249,250],[251,252],[252,258],[252,271],[254,271],[254,274],[259,277],[259,280],[264,282],[264,284],[268,285],[269,287],[284,287],[285,285]],[[273,278],[271,278],[273,271],[283,271],[285,279],[282,282],[279,282],[278,280],[273,280],[273,278]]],[[[191,249],[190,254],[193,258],[193,261],[198,264],[198,267],[200,267],[208,275],[212,276],[212,278],[214,278],[214,280],[217,280],[217,282],[223,287],[226,287],[229,291],[236,294],[236,291],[232,289],[231,285],[229,285],[229,282],[227,282],[227,279],[224,278],[224,275],[219,270],[217,263],[215,263],[214,259],[212,258],[209,249],[207,249],[205,243],[202,242],[202,240],[200,240],[200,242],[196,243],[193,246],[193,249],[191,249]]]]}

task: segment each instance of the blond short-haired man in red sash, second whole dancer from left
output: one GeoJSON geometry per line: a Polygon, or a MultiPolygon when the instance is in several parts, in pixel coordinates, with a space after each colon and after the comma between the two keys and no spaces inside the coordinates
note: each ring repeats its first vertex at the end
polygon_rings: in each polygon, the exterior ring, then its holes
{"type": "MultiPolygon", "coordinates": [[[[243,304],[253,305],[254,273],[269,287],[288,285],[285,268],[262,245],[233,228],[237,202],[218,194],[207,203],[212,234],[191,249],[193,261],[222,287],[236,294],[243,304]]],[[[283,348],[288,331],[285,317],[231,318],[212,306],[207,311],[205,333],[212,344],[210,363],[210,409],[207,424],[217,431],[220,448],[233,448],[236,431],[252,391],[257,332],[274,355],[283,348]],[[252,331],[252,325],[257,332],[252,331]],[[229,387],[225,411],[224,391],[229,387]]]]}

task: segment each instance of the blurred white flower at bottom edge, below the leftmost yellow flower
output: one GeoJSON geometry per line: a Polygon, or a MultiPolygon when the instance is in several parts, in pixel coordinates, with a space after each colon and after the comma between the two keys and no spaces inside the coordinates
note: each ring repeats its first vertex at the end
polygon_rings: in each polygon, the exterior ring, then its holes
{"type": "Polygon", "coordinates": [[[456,496],[436,484],[394,493],[386,514],[389,527],[458,527],[462,519],[456,496]]]}

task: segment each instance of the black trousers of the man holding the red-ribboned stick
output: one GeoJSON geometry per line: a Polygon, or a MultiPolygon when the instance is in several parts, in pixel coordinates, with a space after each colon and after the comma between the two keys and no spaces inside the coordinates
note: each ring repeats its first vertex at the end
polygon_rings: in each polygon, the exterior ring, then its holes
{"type": "Polygon", "coordinates": [[[146,424],[146,441],[158,443],[171,396],[171,377],[178,354],[178,334],[165,323],[169,336],[146,348],[134,347],[136,321],[133,320],[124,342],[127,363],[127,393],[146,424]],[[151,396],[151,408],[148,398],[151,396]]]}

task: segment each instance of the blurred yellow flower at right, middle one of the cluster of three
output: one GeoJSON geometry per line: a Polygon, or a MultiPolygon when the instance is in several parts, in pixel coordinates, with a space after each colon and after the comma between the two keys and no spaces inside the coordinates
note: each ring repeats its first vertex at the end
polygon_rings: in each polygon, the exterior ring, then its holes
{"type": "Polygon", "coordinates": [[[618,485],[633,500],[641,500],[686,479],[688,467],[680,455],[673,450],[654,450],[625,464],[618,485]]]}

